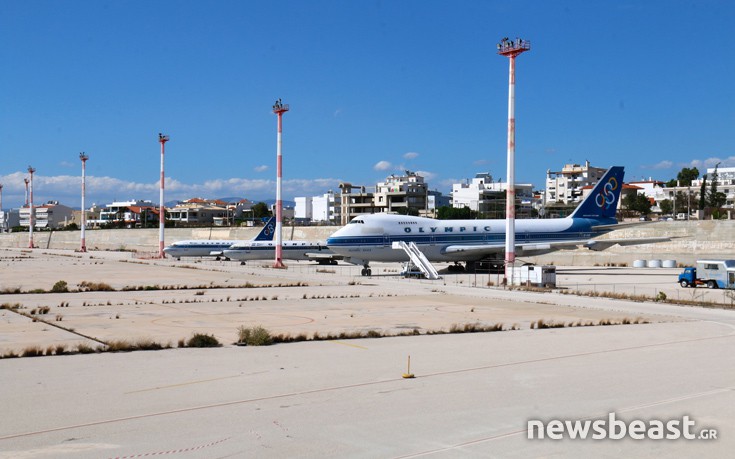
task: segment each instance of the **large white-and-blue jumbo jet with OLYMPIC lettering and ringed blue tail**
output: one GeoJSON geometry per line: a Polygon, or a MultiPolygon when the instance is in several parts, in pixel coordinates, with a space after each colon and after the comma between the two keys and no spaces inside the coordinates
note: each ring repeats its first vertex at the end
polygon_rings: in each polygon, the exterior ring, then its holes
{"type": "MultiPolygon", "coordinates": [[[[610,168],[566,218],[516,220],[517,255],[541,255],[584,246],[604,250],[615,244],[634,245],[668,241],[669,238],[593,239],[617,226],[615,211],[623,187],[623,167],[610,168]]],[[[393,242],[413,242],[429,261],[493,261],[502,264],[505,253],[505,220],[435,220],[394,214],[364,214],[336,231],[327,246],[348,263],[363,265],[371,274],[371,261],[405,262],[409,256],[392,248],[393,242]]]]}

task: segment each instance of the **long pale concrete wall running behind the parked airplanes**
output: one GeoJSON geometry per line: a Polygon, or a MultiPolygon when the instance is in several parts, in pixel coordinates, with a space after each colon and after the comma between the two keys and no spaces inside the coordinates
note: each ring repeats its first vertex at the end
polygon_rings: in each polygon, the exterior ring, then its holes
{"type": "MultiPolygon", "coordinates": [[[[336,226],[286,226],[284,240],[325,240],[336,226]]],[[[185,239],[250,239],[260,228],[172,228],[167,229],[166,244],[185,239]]],[[[692,264],[698,258],[735,259],[735,221],[671,221],[651,222],[627,229],[615,230],[605,238],[660,237],[674,238],[671,242],[639,246],[614,246],[605,251],[587,249],[562,250],[539,257],[520,257],[522,262],[556,265],[593,266],[604,264],[633,265],[635,260],[676,260],[692,264]]],[[[158,229],[87,230],[89,250],[135,250],[155,253],[158,250],[158,229]]],[[[40,248],[75,250],[80,245],[79,231],[35,231],[34,243],[40,248]]],[[[27,247],[28,233],[0,234],[0,247],[27,247]]]]}

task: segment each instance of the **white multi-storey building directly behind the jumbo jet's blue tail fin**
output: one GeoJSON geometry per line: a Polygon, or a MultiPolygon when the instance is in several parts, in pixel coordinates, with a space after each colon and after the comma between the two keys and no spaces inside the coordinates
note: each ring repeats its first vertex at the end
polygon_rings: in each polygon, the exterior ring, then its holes
{"type": "Polygon", "coordinates": [[[546,171],[546,195],[547,204],[578,204],[583,199],[582,189],[589,185],[595,185],[605,175],[607,169],[590,166],[585,161],[584,166],[579,164],[566,164],[557,172],[546,171]]]}

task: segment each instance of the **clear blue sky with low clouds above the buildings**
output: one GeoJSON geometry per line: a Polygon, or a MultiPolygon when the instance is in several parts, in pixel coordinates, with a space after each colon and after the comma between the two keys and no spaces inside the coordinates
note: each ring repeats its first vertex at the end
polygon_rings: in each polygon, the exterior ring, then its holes
{"type": "Polygon", "coordinates": [[[3,0],[2,206],[159,196],[283,198],[405,170],[432,190],[506,179],[516,60],[516,182],[568,163],[626,181],[735,166],[730,0],[3,0]]]}

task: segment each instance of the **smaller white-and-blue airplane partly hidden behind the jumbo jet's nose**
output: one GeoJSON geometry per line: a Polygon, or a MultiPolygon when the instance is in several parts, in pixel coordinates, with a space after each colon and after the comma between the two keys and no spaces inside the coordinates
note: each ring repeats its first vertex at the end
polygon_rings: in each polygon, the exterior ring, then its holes
{"type": "MultiPolygon", "coordinates": [[[[230,260],[268,260],[276,256],[276,243],[273,241],[243,241],[225,249],[224,255],[230,260]]],[[[327,248],[324,242],[283,241],[281,256],[284,260],[312,260],[320,265],[337,264],[342,259],[327,248]]]]}

